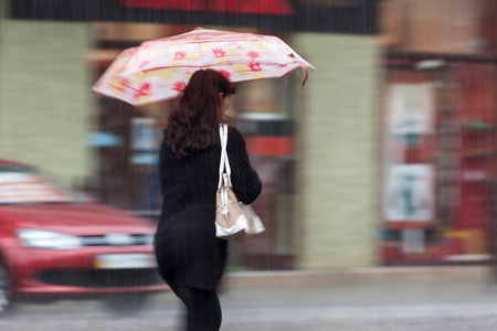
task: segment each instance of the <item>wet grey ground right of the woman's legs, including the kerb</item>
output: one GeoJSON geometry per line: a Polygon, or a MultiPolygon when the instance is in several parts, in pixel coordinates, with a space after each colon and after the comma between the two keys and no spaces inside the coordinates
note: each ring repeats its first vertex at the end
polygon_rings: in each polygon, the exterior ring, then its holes
{"type": "Polygon", "coordinates": [[[493,331],[490,266],[231,273],[223,331],[493,331]]]}

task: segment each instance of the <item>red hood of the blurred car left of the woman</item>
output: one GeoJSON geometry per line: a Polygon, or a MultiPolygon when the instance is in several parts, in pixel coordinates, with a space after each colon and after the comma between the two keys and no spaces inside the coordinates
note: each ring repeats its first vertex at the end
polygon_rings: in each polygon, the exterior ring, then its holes
{"type": "Polygon", "coordinates": [[[0,205],[3,225],[74,235],[152,234],[156,224],[102,204],[0,205]]]}

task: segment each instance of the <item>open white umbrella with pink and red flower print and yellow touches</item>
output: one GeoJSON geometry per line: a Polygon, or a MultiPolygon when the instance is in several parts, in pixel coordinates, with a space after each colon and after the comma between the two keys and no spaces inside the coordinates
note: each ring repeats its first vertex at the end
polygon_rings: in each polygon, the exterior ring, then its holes
{"type": "Polygon", "coordinates": [[[198,70],[220,71],[231,82],[283,77],[315,70],[281,39],[198,28],[123,51],[93,90],[139,106],[171,99],[198,70]]]}

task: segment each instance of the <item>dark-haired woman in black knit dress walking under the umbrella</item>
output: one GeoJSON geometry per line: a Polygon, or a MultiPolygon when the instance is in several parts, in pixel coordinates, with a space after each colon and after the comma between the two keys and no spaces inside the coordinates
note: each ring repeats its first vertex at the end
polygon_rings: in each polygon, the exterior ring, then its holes
{"type": "MultiPolygon", "coordinates": [[[[162,209],[156,233],[159,273],[184,302],[188,331],[218,331],[216,288],[226,263],[226,242],[215,237],[215,191],[221,145],[219,126],[235,93],[221,73],[195,72],[170,114],[160,150],[162,209]]],[[[261,193],[245,141],[229,128],[233,191],[245,204],[261,193]]]]}

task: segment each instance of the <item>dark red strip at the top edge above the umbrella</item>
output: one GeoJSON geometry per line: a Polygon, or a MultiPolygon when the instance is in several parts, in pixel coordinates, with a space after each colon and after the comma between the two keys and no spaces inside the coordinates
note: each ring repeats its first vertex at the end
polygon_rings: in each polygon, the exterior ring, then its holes
{"type": "Polygon", "coordinates": [[[126,8],[237,12],[245,14],[289,15],[295,10],[287,0],[119,0],[126,8]]]}

